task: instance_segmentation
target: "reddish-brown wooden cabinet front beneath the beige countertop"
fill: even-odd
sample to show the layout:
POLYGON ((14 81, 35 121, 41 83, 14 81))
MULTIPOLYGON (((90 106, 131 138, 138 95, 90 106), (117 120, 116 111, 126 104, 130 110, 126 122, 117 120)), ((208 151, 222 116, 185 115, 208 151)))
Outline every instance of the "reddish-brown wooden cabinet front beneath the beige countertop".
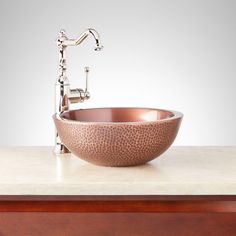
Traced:
POLYGON ((236 196, 1 196, 0 235, 235 236, 236 196))

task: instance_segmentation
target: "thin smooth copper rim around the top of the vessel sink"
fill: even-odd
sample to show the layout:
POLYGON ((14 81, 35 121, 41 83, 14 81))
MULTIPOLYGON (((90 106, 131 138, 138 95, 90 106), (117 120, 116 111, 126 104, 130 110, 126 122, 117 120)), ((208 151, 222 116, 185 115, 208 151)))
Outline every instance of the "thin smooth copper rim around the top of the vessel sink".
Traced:
POLYGON ((65 123, 72 123, 72 124, 84 124, 84 125, 144 125, 144 124, 151 124, 151 123, 163 123, 170 120, 181 119, 183 118, 183 113, 175 110, 167 110, 167 109, 160 109, 160 108, 150 108, 150 107, 94 107, 94 108, 80 108, 80 109, 72 109, 68 111, 64 111, 60 114, 55 113, 53 115, 54 119, 58 119, 65 123), (100 109, 144 109, 144 110, 154 110, 154 111, 161 111, 161 112, 170 112, 173 114, 171 117, 159 119, 159 120, 144 120, 144 121, 79 121, 79 120, 72 120, 62 117, 65 113, 70 113, 78 110, 100 110, 100 109))

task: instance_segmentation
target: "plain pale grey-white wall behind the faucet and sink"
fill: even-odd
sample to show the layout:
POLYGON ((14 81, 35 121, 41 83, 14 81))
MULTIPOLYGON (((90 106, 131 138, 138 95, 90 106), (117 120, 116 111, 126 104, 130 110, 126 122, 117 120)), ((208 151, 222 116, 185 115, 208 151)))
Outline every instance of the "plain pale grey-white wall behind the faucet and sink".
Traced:
POLYGON ((77 37, 68 77, 91 99, 77 107, 140 106, 179 110, 175 145, 236 145, 236 1, 0 2, 0 145, 52 145, 54 83, 61 28, 77 37))

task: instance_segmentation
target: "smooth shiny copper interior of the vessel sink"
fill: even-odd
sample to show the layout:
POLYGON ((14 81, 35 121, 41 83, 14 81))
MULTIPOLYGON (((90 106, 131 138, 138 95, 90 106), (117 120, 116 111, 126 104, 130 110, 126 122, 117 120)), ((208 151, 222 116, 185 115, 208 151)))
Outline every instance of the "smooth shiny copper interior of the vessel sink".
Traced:
POLYGON ((173 117, 170 111, 150 108, 93 108, 71 110, 61 118, 81 122, 143 122, 173 117))

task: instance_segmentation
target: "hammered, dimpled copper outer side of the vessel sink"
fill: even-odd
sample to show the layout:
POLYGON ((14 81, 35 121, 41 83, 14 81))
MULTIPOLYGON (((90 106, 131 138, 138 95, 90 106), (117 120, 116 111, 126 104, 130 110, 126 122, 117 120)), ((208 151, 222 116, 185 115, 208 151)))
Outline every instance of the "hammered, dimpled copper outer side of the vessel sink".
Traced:
POLYGON ((182 117, 156 122, 73 122, 53 116, 63 144, 76 156, 102 166, 144 164, 173 143, 182 117))

